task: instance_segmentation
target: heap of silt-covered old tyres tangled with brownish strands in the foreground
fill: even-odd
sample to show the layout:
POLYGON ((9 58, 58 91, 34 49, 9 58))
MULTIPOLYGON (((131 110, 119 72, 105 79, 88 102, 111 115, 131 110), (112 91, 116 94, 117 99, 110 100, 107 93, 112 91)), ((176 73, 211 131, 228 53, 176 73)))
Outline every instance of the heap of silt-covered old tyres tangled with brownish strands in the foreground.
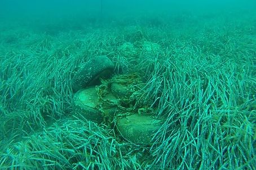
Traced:
MULTIPOLYGON (((74 114, 81 115, 95 123, 104 123, 116 128, 119 136, 135 144, 151 144, 152 136, 161 127, 161 120, 153 118, 153 109, 139 105, 138 91, 142 88, 142 78, 138 73, 129 75, 115 75, 111 77, 109 63, 106 56, 85 63, 74 76, 73 82, 80 85, 73 100, 74 114), (108 61, 101 65, 102 61, 108 61), (96 71, 97 70, 97 71, 96 71), (104 79, 108 70, 109 79, 104 79), (88 76, 90 75, 90 76, 88 76), (101 80, 101 81, 99 81, 101 80), (84 83, 86 82, 86 83, 84 83), (98 82, 98 83, 95 83, 98 82)), ((75 89, 78 89, 75 86, 75 89)))

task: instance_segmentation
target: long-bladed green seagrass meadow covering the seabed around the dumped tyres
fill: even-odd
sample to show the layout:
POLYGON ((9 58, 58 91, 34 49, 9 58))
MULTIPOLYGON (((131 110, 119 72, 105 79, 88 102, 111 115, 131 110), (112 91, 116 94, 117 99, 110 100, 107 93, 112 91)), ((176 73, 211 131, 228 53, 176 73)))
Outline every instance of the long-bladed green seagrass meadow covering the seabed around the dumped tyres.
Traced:
POLYGON ((0 17, 0 169, 256 169, 255 11, 0 17), (96 56, 139 75, 129 107, 162 122, 150 144, 74 113, 96 56))

